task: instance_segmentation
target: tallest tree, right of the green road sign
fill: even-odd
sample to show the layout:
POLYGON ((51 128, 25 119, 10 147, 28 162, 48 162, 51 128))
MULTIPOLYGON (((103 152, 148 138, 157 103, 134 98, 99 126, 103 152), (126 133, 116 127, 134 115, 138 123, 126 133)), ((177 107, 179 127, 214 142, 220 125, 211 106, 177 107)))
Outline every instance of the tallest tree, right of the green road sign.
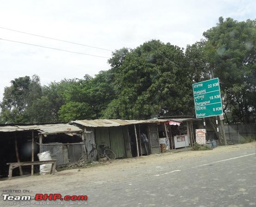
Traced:
POLYGON ((208 69, 220 79, 227 119, 250 123, 256 110, 256 21, 220 17, 203 35, 208 69))

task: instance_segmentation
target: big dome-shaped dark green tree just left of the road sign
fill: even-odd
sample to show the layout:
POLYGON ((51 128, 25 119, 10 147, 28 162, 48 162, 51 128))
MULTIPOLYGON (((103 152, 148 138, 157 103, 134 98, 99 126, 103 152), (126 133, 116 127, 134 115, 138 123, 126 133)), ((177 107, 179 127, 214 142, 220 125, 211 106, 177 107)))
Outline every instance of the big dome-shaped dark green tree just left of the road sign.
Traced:
POLYGON ((132 119, 193 113, 192 80, 180 47, 152 40, 130 51, 116 51, 109 63, 117 96, 104 117, 132 119))

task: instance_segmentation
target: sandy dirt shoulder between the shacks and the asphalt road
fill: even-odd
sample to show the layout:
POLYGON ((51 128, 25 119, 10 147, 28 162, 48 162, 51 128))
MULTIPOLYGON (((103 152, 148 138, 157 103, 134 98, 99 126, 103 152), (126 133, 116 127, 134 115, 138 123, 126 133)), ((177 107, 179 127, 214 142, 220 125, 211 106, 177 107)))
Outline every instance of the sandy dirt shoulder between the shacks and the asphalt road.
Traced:
POLYGON ((190 159, 199 156, 207 156, 209 154, 220 154, 232 151, 238 151, 246 148, 255 148, 256 142, 246 143, 246 144, 237 144, 230 146, 221 146, 214 148, 213 150, 207 151, 181 151, 175 153, 165 153, 161 155, 151 154, 149 156, 143 156, 139 158, 123 159, 123 160, 114 160, 111 163, 103 163, 89 168, 82 169, 71 169, 56 172, 55 175, 45 175, 45 176, 24 176, 24 177, 13 177, 12 180, 0 180, 0 188, 20 188, 21 186, 29 186, 32 183, 61 183, 65 181, 68 177, 70 181, 72 180, 93 180, 94 178, 99 179, 100 177, 106 177, 113 174, 113 172, 125 172, 128 169, 136 169, 140 166, 150 166, 155 165, 156 163, 163 162, 172 162, 175 160, 190 159))

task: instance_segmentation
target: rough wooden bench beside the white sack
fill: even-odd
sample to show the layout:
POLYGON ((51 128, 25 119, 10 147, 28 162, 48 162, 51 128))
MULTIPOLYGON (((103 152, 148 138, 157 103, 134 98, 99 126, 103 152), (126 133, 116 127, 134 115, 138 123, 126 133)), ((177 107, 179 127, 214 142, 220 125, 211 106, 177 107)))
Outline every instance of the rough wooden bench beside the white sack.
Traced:
POLYGON ((42 161, 30 161, 30 162, 9 162, 6 165, 9 166, 9 180, 12 179, 12 170, 19 166, 33 166, 33 165, 43 165, 43 164, 51 164, 50 173, 55 173, 56 168, 56 160, 42 160, 42 161))

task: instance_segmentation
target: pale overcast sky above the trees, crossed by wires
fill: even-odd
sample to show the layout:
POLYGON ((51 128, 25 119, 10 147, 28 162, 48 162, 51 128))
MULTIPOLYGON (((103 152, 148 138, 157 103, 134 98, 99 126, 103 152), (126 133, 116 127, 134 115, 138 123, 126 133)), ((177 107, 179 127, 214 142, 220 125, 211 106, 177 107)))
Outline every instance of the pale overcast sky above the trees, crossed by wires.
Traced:
MULTIPOLYGON (((255 19, 254 0, 0 0, 0 27, 109 50, 159 39, 186 48, 219 16, 255 19)), ((110 51, 0 29, 0 38, 111 57, 110 51)), ((106 58, 0 40, 0 99, 17 77, 37 74, 42 84, 109 69, 106 58)))

